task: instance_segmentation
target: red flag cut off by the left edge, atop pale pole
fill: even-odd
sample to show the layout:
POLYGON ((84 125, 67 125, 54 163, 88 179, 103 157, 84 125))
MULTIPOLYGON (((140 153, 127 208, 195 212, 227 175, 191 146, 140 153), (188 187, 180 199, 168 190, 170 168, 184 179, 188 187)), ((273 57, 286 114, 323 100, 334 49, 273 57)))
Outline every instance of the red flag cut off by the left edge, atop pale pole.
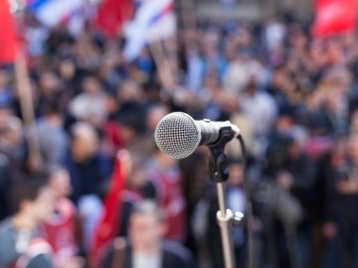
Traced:
POLYGON ((0 0, 0 65, 15 61, 16 35, 8 0, 0 0))

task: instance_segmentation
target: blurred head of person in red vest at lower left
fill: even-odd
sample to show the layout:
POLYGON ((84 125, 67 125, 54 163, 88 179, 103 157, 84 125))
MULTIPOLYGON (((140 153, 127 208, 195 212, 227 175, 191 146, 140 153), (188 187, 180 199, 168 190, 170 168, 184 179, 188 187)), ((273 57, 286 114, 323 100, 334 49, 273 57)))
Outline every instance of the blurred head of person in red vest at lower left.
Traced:
POLYGON ((72 192, 70 174, 64 167, 51 167, 49 171, 49 187, 56 199, 67 197, 72 192))

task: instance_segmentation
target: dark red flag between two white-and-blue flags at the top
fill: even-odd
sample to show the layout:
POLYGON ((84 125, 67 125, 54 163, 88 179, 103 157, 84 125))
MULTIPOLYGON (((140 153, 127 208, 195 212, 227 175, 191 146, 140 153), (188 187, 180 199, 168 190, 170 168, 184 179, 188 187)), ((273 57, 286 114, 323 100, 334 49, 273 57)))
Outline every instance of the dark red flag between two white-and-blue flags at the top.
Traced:
POLYGON ((133 10, 132 0, 104 0, 99 6, 97 25, 108 37, 117 37, 133 10))

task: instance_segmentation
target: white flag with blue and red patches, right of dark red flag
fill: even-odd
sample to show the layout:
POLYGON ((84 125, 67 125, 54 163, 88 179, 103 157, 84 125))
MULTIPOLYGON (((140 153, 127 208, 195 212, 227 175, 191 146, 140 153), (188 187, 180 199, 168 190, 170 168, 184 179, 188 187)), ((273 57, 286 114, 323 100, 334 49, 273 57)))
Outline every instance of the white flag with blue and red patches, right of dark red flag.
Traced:
POLYGON ((176 31, 174 0, 143 0, 133 21, 124 26, 124 57, 134 60, 146 44, 172 37, 176 31))

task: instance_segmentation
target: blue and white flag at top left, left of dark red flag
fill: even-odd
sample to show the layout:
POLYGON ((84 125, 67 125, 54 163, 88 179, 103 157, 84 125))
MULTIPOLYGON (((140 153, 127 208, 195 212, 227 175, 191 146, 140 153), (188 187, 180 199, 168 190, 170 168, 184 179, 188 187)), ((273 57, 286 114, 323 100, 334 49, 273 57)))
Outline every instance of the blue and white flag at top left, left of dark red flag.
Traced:
POLYGON ((28 7, 42 24, 54 27, 77 19, 85 3, 86 0, 28 0, 28 7))

